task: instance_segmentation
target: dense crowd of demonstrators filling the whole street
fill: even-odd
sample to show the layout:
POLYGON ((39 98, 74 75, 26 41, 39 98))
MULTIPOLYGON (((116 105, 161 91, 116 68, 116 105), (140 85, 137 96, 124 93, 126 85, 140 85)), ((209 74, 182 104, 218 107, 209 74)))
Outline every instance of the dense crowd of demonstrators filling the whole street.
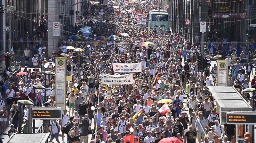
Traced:
MULTIPOLYGON (((128 143, 131 140, 127 140, 126 137, 130 135, 134 136, 134 143, 158 143, 168 137, 177 138, 185 143, 196 143, 197 139, 199 143, 235 143, 236 126, 220 123, 214 98, 208 89, 209 86, 216 85, 217 80, 217 66, 213 65, 211 68, 211 57, 218 53, 228 60, 230 69, 228 84, 241 93, 241 90, 249 87, 253 68, 251 62, 255 62, 254 49, 246 47, 241 47, 240 50, 232 49, 228 44, 228 38, 223 37, 222 41, 216 35, 212 35, 204 46, 204 51, 200 51, 198 43, 190 43, 178 32, 172 35, 170 29, 167 31, 163 31, 161 27, 148 29, 147 24, 139 25, 138 19, 134 18, 135 16, 140 16, 140 19, 148 18, 148 2, 121 4, 119 1, 108 1, 108 4, 102 5, 92 3, 83 11, 84 16, 77 17, 74 29, 78 32, 81 26, 91 26, 92 37, 82 38, 82 42, 71 40, 59 42, 59 47, 48 60, 42 49, 42 42, 39 44, 40 41, 33 44, 32 49, 24 51, 25 64, 32 61, 34 68, 25 67, 23 72, 26 73, 22 79, 14 73, 11 85, 5 83, 2 86, 5 87, 2 88, 4 89, 2 93, 7 96, 7 105, 0 98, 2 132, 8 114, 9 121, 12 122, 9 135, 19 132, 17 130, 19 110, 24 110, 24 108, 18 109, 19 100, 30 100, 34 102, 34 106, 57 106, 58 102, 54 96, 55 76, 45 75, 44 72, 55 72, 52 63, 55 63, 55 58, 60 57, 61 53, 66 53, 69 55, 67 75, 72 75, 72 81, 67 84, 67 95, 63 95, 68 100, 68 110, 63 110, 60 121, 53 120, 51 123, 50 120, 43 121, 44 132, 51 133, 51 142, 54 138, 60 142, 58 136, 61 132, 62 142, 66 142, 64 140, 66 135, 69 143, 83 141, 84 143, 124 143, 124 141, 128 143), (118 4, 120 7, 113 7, 118 4), (123 33, 129 36, 122 36, 123 33), (118 38, 95 41, 94 35, 97 37, 116 35, 118 38), (218 42, 213 42, 216 40, 218 42), (141 46, 146 41, 163 45, 141 46), (68 50, 67 46, 81 48, 84 51, 68 50), (196 62, 200 55, 207 60, 203 69, 200 69, 196 62), (142 61, 146 62, 146 67, 142 72, 133 74, 134 84, 101 84, 102 73, 115 74, 112 63, 142 61), (48 62, 52 63, 47 64, 48 62), (78 70, 79 68, 81 70, 78 70), (201 86, 202 70, 204 85, 201 86), (45 76, 46 81, 44 81, 45 76), (213 80, 210 80, 210 76, 213 80), (158 83, 158 80, 161 83, 158 83), (44 86, 45 82, 46 88, 51 88, 51 94, 47 95, 46 101, 42 91, 33 89, 33 85, 44 86), (187 103, 184 102, 185 98, 187 103), (164 99, 171 99, 173 102, 168 102, 170 111, 162 116, 159 110, 164 103, 158 101, 164 99), (189 109, 188 113, 185 111, 186 107, 189 109), (134 118, 139 112, 140 115, 134 118), (91 128, 92 124, 94 129, 91 128), (51 126, 50 131, 49 126, 51 126), (88 137, 89 134, 92 134, 91 139, 88 137)), ((255 81, 256 77, 252 79, 251 85, 256 88, 255 81)), ((250 95, 245 93, 241 95, 252 106, 250 95)), ((23 132, 26 132, 28 131, 26 110, 23 113, 25 118, 23 132)), ((248 137, 244 139, 245 142, 250 142, 248 137)))

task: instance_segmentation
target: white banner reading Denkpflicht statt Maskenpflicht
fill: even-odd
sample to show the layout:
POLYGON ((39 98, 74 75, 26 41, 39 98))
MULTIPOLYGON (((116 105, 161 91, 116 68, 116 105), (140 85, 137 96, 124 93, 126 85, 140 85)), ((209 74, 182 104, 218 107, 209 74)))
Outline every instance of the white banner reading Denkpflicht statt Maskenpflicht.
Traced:
POLYGON ((131 64, 121 64, 121 63, 112 63, 114 72, 141 72, 141 63, 131 63, 131 64))

